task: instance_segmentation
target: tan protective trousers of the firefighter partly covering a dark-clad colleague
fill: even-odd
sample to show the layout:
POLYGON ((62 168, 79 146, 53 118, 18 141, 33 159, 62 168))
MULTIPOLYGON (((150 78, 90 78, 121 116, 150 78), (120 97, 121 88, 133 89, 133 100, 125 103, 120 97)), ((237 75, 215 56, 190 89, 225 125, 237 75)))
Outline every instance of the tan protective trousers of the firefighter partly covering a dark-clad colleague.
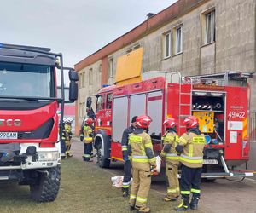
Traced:
POLYGON ((151 175, 148 165, 148 169, 143 170, 141 168, 134 168, 132 164, 132 177, 131 195, 129 204, 135 206, 136 209, 146 209, 148 192, 151 184, 151 175))

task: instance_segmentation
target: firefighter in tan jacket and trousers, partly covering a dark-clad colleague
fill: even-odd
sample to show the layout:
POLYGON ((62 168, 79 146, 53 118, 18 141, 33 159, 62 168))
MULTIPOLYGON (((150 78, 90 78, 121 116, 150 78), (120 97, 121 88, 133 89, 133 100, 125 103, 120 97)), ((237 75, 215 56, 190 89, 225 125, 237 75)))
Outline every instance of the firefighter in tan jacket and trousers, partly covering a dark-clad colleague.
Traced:
POLYGON ((128 153, 131 156, 132 176, 130 195, 130 210, 149 212, 147 207, 148 192, 151 184, 151 168, 155 168, 153 145, 145 132, 151 123, 148 116, 139 116, 136 119, 137 128, 129 136, 128 153))

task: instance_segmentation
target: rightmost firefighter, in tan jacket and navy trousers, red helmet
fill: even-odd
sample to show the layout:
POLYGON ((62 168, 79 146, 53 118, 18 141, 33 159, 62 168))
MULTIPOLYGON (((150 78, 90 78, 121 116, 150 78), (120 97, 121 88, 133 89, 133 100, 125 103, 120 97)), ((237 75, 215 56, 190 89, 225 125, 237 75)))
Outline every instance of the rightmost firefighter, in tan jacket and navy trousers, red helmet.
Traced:
POLYGON ((201 193, 203 150, 206 144, 205 137, 199 130, 198 119, 195 116, 186 118, 184 124, 187 132, 179 138, 179 143, 176 147, 177 153, 181 154, 180 161, 182 162, 182 203, 175 208, 177 211, 197 209, 201 193), (192 199, 189 204, 190 193, 192 193, 192 199))

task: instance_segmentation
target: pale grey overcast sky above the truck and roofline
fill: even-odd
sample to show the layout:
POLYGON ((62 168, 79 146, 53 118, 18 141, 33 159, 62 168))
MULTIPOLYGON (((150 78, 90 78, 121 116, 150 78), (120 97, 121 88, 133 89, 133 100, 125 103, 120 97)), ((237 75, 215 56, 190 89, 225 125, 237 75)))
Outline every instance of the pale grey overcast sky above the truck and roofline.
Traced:
POLYGON ((2 0, 0 43, 49 47, 72 66, 176 0, 2 0))

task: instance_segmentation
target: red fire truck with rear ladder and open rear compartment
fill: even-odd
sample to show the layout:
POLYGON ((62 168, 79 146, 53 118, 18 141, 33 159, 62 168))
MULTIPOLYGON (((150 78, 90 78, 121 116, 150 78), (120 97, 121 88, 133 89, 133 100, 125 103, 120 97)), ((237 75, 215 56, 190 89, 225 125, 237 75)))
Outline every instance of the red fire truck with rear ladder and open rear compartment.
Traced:
MULTIPOLYGON (((249 87, 252 73, 226 72, 185 77, 179 72, 147 72, 137 83, 113 85, 96 94, 95 140, 98 164, 108 168, 122 160, 121 137, 135 115, 152 118, 149 128, 154 152, 160 153, 166 118, 177 120, 178 135, 185 132, 184 118, 194 115, 206 135, 203 177, 253 176, 235 171, 249 159, 249 87), (150 74, 151 73, 151 74, 150 74)), ((90 109, 90 98, 87 107, 90 109)))

